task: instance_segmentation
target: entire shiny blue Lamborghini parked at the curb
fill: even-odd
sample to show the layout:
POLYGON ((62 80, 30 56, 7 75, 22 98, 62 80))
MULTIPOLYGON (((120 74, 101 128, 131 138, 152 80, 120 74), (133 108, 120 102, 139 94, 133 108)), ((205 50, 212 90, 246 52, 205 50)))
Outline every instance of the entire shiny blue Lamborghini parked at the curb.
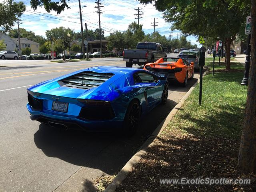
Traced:
POLYGON ((30 118, 65 129, 122 129, 132 135, 140 116, 168 97, 165 77, 142 69, 97 66, 27 89, 30 118))

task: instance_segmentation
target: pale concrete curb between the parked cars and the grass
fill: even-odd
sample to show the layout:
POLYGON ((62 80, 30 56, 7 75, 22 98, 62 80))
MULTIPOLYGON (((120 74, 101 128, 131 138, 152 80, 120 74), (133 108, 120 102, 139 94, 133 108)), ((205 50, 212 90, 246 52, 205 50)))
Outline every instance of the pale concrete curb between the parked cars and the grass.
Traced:
MULTIPOLYGON (((207 74, 210 68, 207 68, 204 72, 203 76, 207 74)), ((157 126, 154 132, 150 135, 150 137, 144 142, 144 144, 140 147, 138 152, 130 158, 130 160, 124 165, 124 167, 120 170, 120 172, 116 175, 114 180, 108 185, 108 187, 104 190, 104 192, 115 192, 117 187, 121 184, 121 182, 128 176, 128 174, 132 171, 132 167, 139 162, 141 156, 146 154, 148 148, 152 146, 153 141, 157 136, 159 136, 162 131, 166 128, 170 120, 172 120, 173 116, 178 112, 182 104, 185 100, 190 96, 192 90, 196 87, 196 85, 200 82, 198 79, 197 82, 188 90, 188 92, 184 95, 184 97, 180 100, 180 102, 171 110, 168 116, 157 126)))

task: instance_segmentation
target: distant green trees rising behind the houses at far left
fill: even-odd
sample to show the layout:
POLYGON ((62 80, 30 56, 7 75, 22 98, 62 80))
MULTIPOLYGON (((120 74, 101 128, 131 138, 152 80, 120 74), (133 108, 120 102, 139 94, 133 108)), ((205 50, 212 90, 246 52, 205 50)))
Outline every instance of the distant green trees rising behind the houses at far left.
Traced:
MULTIPOLYGON (((18 38, 18 29, 10 30, 9 34, 10 38, 18 38)), ((45 43, 45 38, 40 35, 35 35, 32 31, 27 31, 24 28, 20 28, 20 38, 27 38, 31 41, 40 43, 41 45, 45 43)))

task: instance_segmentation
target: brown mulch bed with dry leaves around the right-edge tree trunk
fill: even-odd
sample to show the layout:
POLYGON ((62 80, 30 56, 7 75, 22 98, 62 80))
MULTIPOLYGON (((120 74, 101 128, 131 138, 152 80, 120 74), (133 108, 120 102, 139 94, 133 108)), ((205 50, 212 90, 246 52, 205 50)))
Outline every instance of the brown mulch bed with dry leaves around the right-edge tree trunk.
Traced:
MULTIPOLYGON (((213 125, 214 126, 214 125, 213 125)), ((252 192, 254 174, 236 169, 240 140, 193 136, 165 130, 136 164, 117 192, 252 192), (249 185, 171 185, 170 178, 250 178, 249 185)))

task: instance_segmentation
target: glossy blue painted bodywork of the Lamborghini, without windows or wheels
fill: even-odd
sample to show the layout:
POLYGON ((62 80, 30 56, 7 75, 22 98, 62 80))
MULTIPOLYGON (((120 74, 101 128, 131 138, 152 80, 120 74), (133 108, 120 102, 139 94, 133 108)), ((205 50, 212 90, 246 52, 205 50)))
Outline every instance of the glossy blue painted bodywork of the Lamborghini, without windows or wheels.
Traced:
POLYGON ((40 94, 33 98, 42 102, 42 109, 34 110, 29 103, 27 104, 27 109, 31 114, 32 120, 43 122, 42 119, 46 119, 46 122, 67 124, 68 128, 73 128, 74 125, 78 125, 79 128, 85 130, 94 130, 107 126, 121 128, 129 103, 134 99, 138 100, 141 105, 142 115, 146 114, 161 102, 166 82, 167 80, 159 80, 159 77, 151 72, 136 68, 116 66, 86 68, 28 88, 28 91, 32 93, 40 94), (86 71, 99 74, 112 73, 114 75, 100 86, 90 89, 68 87, 62 82, 65 78, 86 71), (150 83, 134 83, 133 75, 141 72, 150 74, 157 80, 150 83), (98 109, 99 113, 102 109, 100 106, 89 106, 85 100, 110 102, 114 111, 114 118, 111 120, 88 120, 81 118, 79 115, 82 108, 98 107, 96 109, 98 109), (54 101, 68 103, 67 112, 52 110, 54 101))

